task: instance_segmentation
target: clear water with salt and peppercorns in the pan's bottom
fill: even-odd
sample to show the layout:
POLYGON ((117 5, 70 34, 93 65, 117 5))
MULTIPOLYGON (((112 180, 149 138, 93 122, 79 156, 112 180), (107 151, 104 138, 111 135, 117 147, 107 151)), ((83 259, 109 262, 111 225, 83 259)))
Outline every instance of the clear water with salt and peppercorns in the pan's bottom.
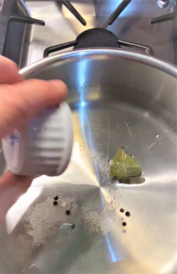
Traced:
POLYGON ((176 212, 173 129, 141 107, 71 96, 74 145, 68 169, 59 177, 35 179, 9 210, 1 256, 13 273, 162 272, 161 261, 165 266, 175 250, 175 224, 163 218, 168 214, 172 224, 176 212), (144 183, 110 180, 110 159, 122 145, 140 164, 144 183))

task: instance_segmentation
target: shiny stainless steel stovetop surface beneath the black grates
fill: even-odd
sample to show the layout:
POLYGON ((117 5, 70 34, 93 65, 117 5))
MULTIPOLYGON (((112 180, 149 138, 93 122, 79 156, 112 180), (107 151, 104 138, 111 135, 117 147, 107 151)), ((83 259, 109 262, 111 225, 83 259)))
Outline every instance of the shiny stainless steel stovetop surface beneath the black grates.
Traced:
MULTIPOLYGON (((4 4, 5 2, 6 0, 4 4)), ((118 39, 149 45, 156 57, 177 64, 176 19, 150 24, 152 18, 175 12, 176 1, 169 0, 167 6, 161 8, 158 0, 133 0, 109 26, 108 18, 120 2, 72 1, 71 4, 87 23, 84 26, 64 5, 61 5, 60 1, 18 0, 20 14, 43 20, 45 26, 24 27, 22 23, 12 22, 5 55, 14 59, 22 68, 42 59, 45 48, 75 40, 81 32, 89 28, 102 27, 113 32, 118 39), (21 52, 19 56, 16 54, 14 57, 13 52, 18 39, 21 40, 21 52)))

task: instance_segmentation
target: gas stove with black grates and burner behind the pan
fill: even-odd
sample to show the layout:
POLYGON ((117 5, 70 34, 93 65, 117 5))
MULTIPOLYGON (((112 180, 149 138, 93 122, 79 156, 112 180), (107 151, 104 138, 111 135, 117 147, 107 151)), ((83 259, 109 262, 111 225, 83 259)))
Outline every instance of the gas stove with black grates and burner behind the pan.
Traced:
POLYGON ((23 68, 83 47, 130 47, 177 64, 176 0, 4 0, 0 54, 23 68))

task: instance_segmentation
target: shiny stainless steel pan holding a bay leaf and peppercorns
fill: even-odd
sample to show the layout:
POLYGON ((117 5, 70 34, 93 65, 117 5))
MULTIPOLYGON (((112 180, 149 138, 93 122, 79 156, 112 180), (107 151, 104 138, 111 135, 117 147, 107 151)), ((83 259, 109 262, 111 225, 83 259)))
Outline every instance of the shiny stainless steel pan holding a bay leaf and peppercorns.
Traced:
POLYGON ((0 228, 7 273, 176 273, 176 67, 96 48, 20 73, 68 85, 74 144, 66 172, 35 179, 9 209, 0 228), (121 146, 143 171, 130 184, 109 178, 121 146))

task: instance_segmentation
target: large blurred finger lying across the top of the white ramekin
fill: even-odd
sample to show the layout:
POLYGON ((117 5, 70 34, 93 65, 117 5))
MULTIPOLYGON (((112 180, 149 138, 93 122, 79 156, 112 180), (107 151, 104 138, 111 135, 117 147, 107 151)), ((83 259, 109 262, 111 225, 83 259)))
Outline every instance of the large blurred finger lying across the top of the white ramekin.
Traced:
POLYGON ((0 139, 21 130, 38 113, 63 101, 67 86, 60 80, 30 79, 0 85, 0 139))

